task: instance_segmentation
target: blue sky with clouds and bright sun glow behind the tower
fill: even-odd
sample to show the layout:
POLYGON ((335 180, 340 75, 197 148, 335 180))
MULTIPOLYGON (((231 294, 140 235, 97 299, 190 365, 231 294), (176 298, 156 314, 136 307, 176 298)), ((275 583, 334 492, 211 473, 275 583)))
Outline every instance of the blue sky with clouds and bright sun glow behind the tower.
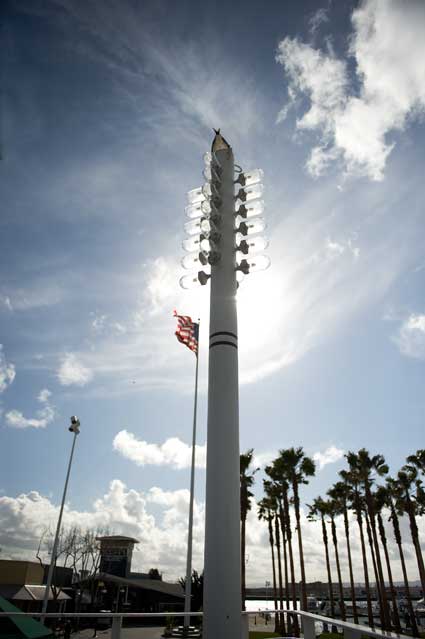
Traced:
POLYGON ((172 311, 201 318, 202 466, 208 287, 178 279, 212 127, 265 172, 272 268, 238 294, 242 450, 304 446, 323 466, 308 501, 344 451, 395 472, 423 447, 423 3, 15 0, 2 22, 3 555, 31 557, 55 521, 77 414, 67 522, 184 572, 194 358, 172 311))

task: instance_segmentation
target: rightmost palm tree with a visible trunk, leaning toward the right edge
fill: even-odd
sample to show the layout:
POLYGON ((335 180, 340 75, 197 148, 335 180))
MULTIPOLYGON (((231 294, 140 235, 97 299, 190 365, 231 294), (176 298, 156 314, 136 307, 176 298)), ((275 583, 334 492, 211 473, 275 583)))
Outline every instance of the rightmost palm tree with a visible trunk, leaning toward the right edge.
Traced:
POLYGON ((424 506, 422 504, 423 489, 421 487, 421 481, 418 478, 417 468, 411 465, 403 466, 403 468, 397 473, 397 483, 400 488, 397 507, 400 514, 406 513, 409 518, 410 534, 412 536, 416 561, 418 563, 422 592, 425 594, 425 566, 419 540, 418 525, 416 523, 416 515, 422 515, 424 513, 424 506), (419 500, 416 499, 418 495, 420 496, 419 500))

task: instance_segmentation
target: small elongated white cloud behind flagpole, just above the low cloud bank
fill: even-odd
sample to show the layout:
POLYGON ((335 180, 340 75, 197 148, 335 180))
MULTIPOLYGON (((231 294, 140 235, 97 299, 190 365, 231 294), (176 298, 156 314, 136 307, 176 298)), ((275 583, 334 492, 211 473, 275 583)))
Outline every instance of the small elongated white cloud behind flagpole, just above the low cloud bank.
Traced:
MULTIPOLYGON (((192 447, 178 437, 170 437, 163 444, 148 444, 133 433, 121 430, 114 437, 113 448, 138 466, 170 466, 180 470, 191 465, 192 447)), ((205 468, 205 465, 206 446, 197 444, 196 466, 205 468)))

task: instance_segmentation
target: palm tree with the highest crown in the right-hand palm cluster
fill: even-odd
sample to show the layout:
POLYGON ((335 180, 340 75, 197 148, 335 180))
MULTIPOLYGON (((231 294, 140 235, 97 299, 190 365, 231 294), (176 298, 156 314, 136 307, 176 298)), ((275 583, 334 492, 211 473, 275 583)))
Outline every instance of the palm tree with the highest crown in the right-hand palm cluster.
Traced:
POLYGON ((382 455, 370 456, 365 448, 361 448, 358 453, 349 452, 346 455, 350 467, 356 468, 359 479, 363 484, 367 512, 372 532, 371 548, 375 550, 376 567, 378 571, 380 586, 380 603, 382 611, 382 628, 391 630, 391 619, 388 608, 387 593, 385 590, 384 573, 382 570, 381 554, 379 551, 378 535, 376 532, 375 504, 372 495, 372 484, 375 477, 383 477, 388 474, 388 466, 382 455))

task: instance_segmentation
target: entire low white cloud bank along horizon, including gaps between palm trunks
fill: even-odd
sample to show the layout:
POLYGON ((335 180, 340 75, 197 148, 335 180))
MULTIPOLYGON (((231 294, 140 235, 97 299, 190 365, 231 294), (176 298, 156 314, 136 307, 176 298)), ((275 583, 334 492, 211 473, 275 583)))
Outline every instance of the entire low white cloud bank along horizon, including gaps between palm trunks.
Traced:
MULTIPOLYGON (((95 500, 91 508, 74 510, 68 503, 64 509, 63 523, 65 527, 77 525, 81 528, 109 529, 111 533, 135 537, 140 544, 136 545, 133 555, 133 570, 147 571, 158 567, 166 580, 174 580, 185 572, 187 548, 189 491, 164 491, 152 487, 147 491, 128 488, 119 479, 111 481, 106 493, 95 500)), ((59 506, 37 491, 31 491, 10 497, 0 495, 0 545, 4 554, 14 558, 34 559, 40 536, 50 527, 54 530, 57 522, 59 506)), ((202 570, 204 545, 204 511, 202 502, 194 504, 194 544, 193 567, 202 570)), ((291 509, 294 524, 293 510, 291 509)), ((308 522, 306 509, 301 512, 303 544, 307 579, 325 579, 325 557, 322 544, 320 522, 308 522)), ((423 518, 418 520, 420 534, 425 534, 423 518)), ((344 538, 343 521, 337 519, 338 537, 344 538)), ((394 557, 393 570, 395 579, 401 579, 400 563, 393 540, 391 525, 385 517, 389 549, 394 557)), ((355 518, 350 514, 350 529, 353 553, 355 580, 362 582, 362 559, 355 518)), ((403 548, 406 551, 407 568, 412 579, 417 578, 417 567, 410 540, 409 525, 401 520, 403 548)), ((271 578, 270 548, 267 526, 258 521, 257 504, 252 503, 252 510, 247 520, 247 583, 261 585, 271 578)), ((297 546, 294 546, 295 553, 297 546)), ((346 572, 347 556, 345 544, 341 544, 341 565, 345 567, 343 578, 348 580, 346 572)), ((296 573, 299 578, 298 561, 296 573)), ((332 569, 334 566, 332 565, 332 569)))

